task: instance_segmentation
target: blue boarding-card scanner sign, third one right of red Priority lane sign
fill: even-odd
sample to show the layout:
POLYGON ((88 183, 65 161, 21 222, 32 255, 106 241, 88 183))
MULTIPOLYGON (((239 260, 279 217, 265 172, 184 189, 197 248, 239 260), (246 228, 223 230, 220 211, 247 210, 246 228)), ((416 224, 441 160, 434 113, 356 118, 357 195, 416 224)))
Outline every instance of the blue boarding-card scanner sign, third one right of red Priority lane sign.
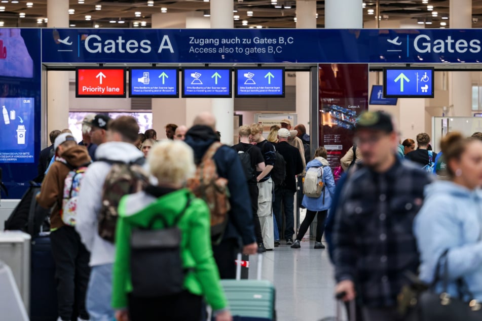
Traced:
POLYGON ((235 97, 284 97, 284 68, 238 68, 235 97))

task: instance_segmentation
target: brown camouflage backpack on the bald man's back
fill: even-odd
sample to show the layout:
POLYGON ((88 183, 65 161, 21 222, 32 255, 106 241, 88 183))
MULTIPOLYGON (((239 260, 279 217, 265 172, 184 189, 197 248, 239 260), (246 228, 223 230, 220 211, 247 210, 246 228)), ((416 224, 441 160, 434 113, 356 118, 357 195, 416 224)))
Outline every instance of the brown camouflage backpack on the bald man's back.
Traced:
POLYGON ((211 213, 211 240, 218 244, 223 237, 228 223, 229 203, 228 180, 217 175, 216 163, 212 157, 221 147, 219 142, 213 143, 204 153, 201 163, 196 167, 196 174, 188 181, 188 188, 202 198, 211 213))

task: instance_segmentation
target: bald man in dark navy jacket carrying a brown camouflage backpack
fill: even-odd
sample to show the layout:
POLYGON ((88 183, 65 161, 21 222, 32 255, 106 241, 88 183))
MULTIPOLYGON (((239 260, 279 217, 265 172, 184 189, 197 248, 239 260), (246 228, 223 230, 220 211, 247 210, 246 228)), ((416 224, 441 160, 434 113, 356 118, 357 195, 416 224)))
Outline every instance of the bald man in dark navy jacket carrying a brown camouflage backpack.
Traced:
MULTIPOLYGON (((201 162, 204 153, 212 143, 217 141, 215 133, 216 121, 212 114, 201 113, 194 119, 193 127, 186 133, 186 142, 194 150, 196 164, 201 162)), ((212 250, 221 278, 236 278, 236 256, 239 243, 242 243, 243 254, 257 252, 254 237, 253 214, 251 211, 246 176, 239 156, 229 146, 221 146, 213 156, 217 174, 228 180, 231 210, 228 213, 228 225, 221 243, 213 245, 212 250)))

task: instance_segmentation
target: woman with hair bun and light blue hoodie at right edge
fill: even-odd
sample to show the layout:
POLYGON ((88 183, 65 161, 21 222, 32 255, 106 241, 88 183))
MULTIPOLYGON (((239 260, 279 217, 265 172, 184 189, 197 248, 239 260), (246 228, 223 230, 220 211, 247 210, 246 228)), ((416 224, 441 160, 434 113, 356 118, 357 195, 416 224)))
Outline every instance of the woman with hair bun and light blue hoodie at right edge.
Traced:
MULTIPOLYGON (((464 299, 482 301, 482 142, 451 133, 440 145, 450 180, 426 187, 425 204, 415 218, 420 278, 431 283, 440 256, 448 250, 448 294, 459 296, 462 279, 471 293, 463 292, 464 299)), ((441 271, 439 277, 443 265, 441 271)), ((438 282, 435 291, 443 290, 438 282)))

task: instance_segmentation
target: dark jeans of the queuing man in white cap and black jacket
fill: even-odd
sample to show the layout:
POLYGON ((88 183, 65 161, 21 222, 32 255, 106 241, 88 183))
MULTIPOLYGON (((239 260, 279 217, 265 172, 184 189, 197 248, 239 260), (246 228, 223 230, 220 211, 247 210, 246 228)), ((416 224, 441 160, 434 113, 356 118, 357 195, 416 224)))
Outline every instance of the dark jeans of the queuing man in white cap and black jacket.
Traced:
POLYGON ((293 238, 294 234, 294 191, 279 187, 275 190, 275 199, 273 201, 273 212, 278 223, 278 231, 281 235, 281 226, 283 220, 281 216, 281 203, 283 203, 286 228, 284 230, 284 238, 293 238))

